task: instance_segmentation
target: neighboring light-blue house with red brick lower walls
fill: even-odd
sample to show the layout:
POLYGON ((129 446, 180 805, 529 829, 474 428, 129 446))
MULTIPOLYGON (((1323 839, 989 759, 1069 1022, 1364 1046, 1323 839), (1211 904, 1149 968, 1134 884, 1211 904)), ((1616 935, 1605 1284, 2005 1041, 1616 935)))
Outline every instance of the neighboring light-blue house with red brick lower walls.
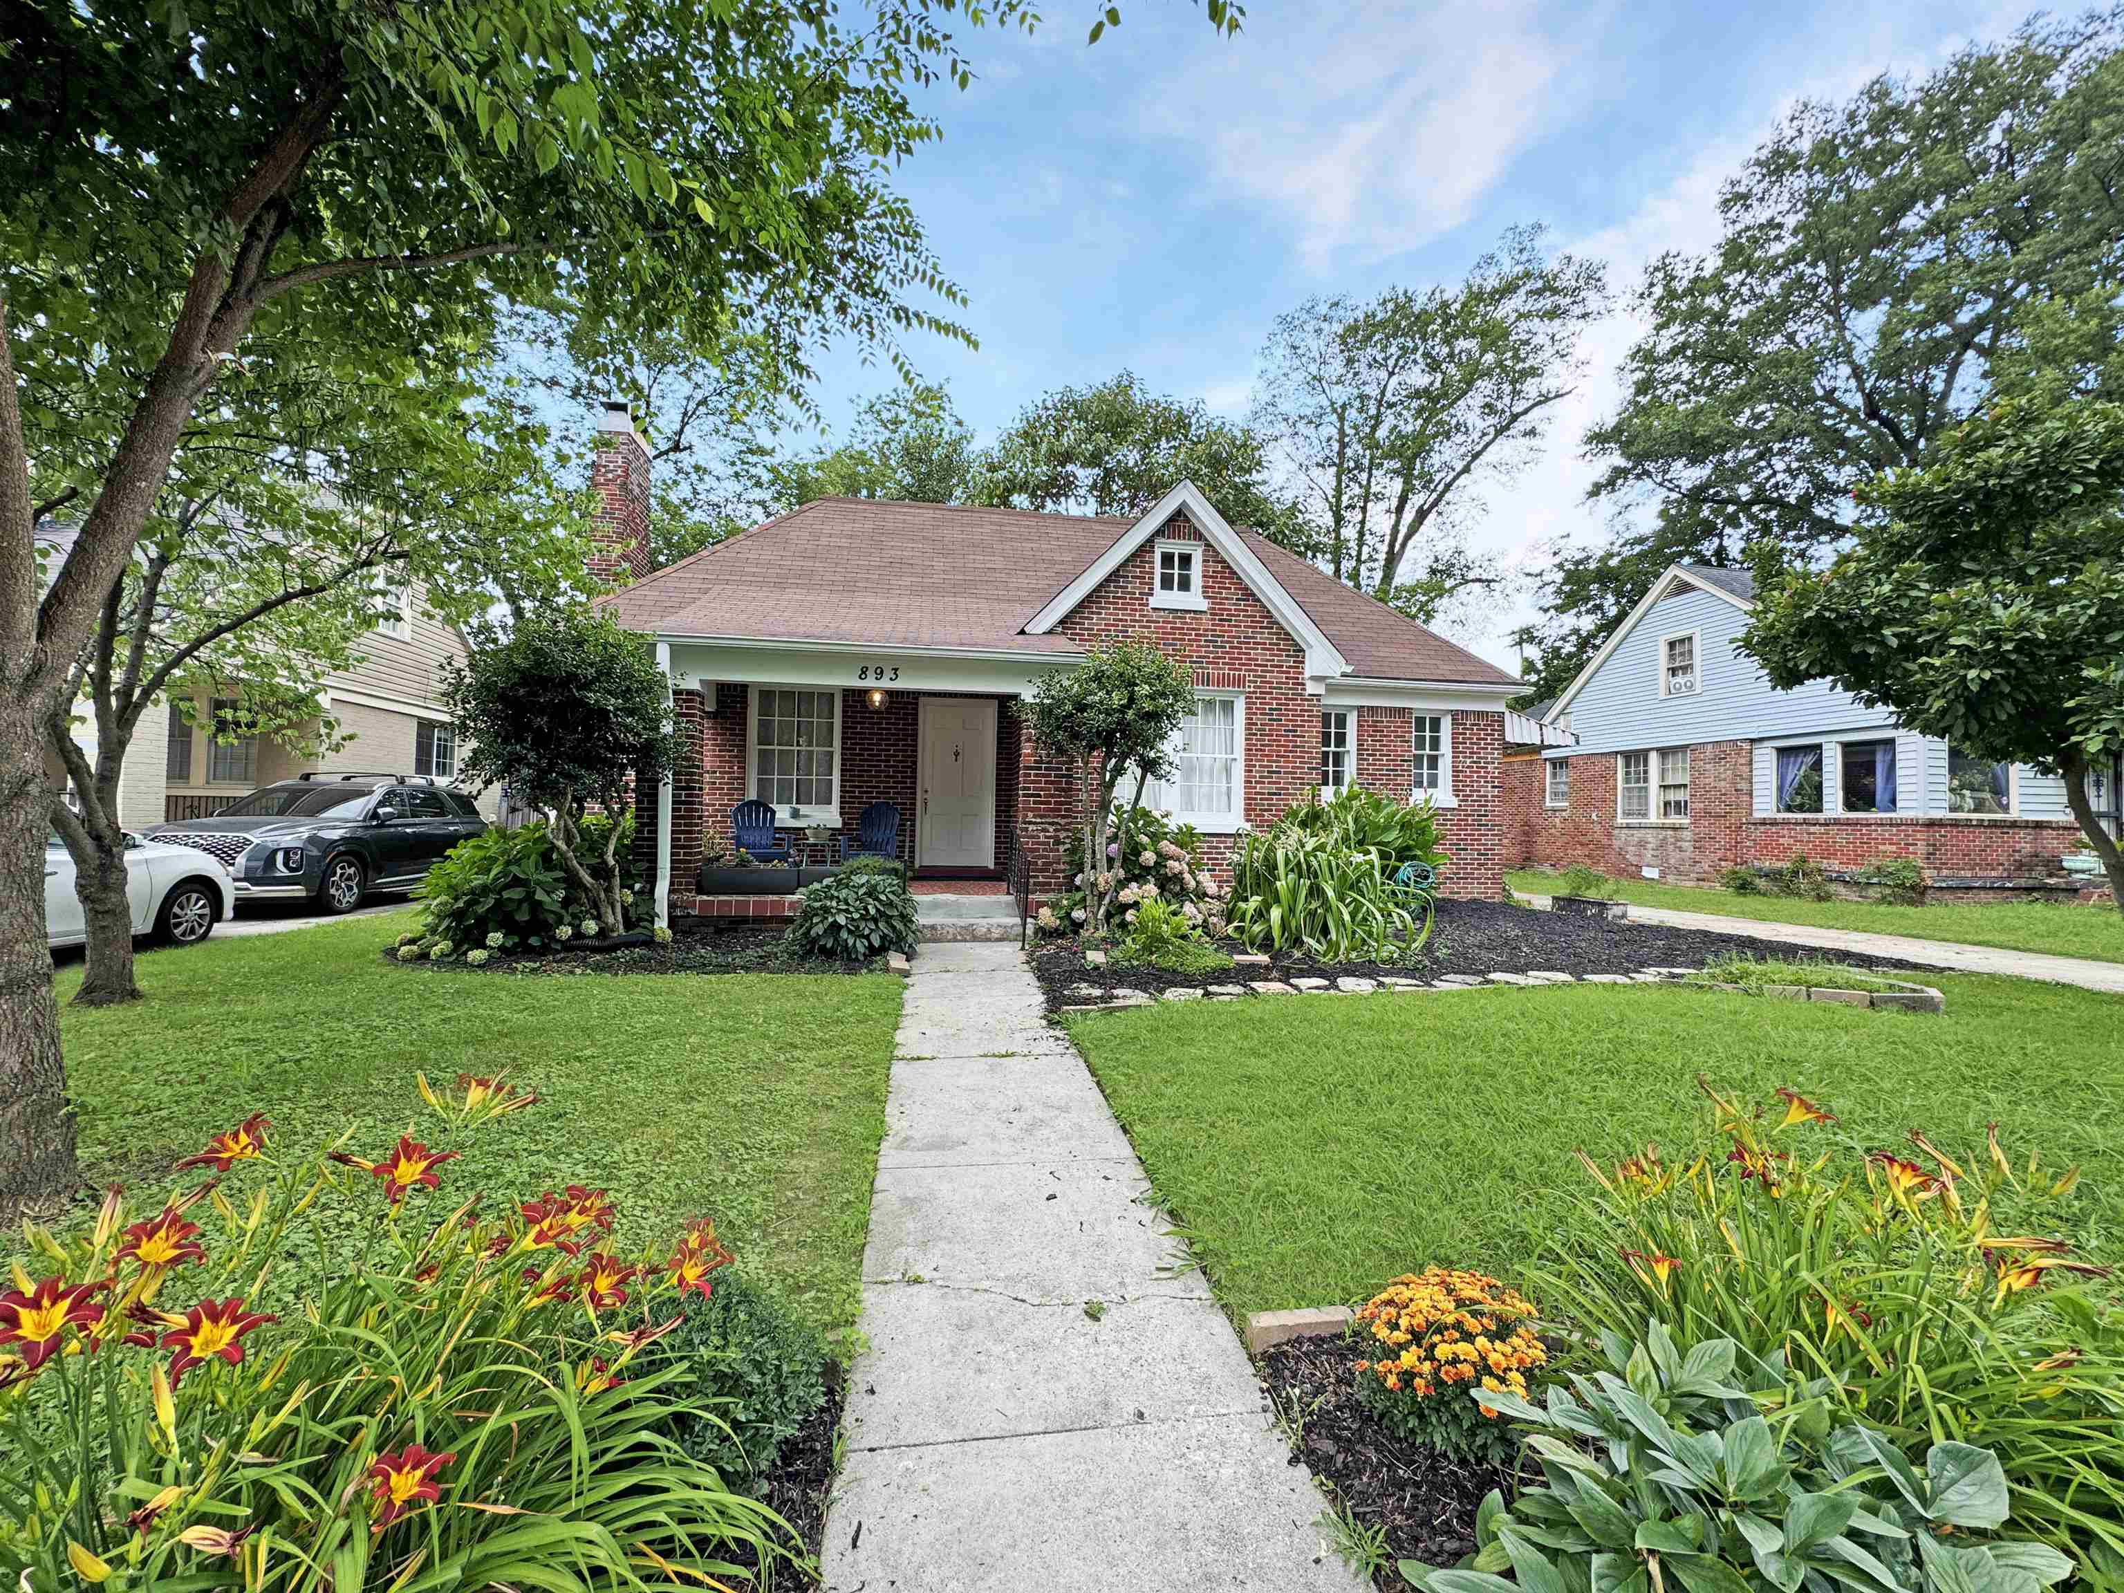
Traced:
MULTIPOLYGON (((1740 635, 1740 569, 1674 565, 1546 712, 1534 862, 1710 879, 1795 854, 1831 871, 1914 858, 1935 886, 2065 888, 2079 826, 2058 775, 1975 758, 1827 682, 1778 690, 1740 635)), ((2088 782, 2111 830, 2118 769, 2088 782)), ((2077 867, 2077 864, 2075 864, 2077 867)))

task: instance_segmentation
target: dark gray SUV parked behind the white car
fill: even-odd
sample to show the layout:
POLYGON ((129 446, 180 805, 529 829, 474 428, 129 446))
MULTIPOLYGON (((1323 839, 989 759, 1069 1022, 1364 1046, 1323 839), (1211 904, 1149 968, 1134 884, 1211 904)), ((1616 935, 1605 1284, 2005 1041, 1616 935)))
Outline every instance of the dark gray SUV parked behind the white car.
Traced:
POLYGON ((302 775, 212 818, 157 824, 151 841, 191 845, 236 877, 236 901, 308 896, 350 913, 374 892, 412 890, 486 820, 461 790, 423 775, 302 775))

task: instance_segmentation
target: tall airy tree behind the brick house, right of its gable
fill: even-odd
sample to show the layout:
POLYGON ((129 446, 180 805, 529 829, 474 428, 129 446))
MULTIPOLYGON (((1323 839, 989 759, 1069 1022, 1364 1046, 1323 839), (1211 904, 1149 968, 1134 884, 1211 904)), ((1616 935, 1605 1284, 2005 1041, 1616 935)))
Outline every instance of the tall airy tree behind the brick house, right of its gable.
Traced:
POLYGON ((1328 573, 1419 620, 1495 588, 1495 563, 1455 533, 1485 484, 1538 459, 1604 308, 1597 263, 1517 227, 1455 287, 1277 316, 1253 429, 1296 484, 1328 573))

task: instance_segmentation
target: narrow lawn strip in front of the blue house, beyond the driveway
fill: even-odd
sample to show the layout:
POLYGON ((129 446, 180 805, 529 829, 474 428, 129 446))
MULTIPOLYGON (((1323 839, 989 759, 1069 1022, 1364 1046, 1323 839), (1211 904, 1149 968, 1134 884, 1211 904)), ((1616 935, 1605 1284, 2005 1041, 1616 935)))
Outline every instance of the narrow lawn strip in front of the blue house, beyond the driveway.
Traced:
MULTIPOLYGON (((1514 869, 1512 890, 1548 896, 1557 875, 1548 869, 1514 869)), ((2096 962, 2124 962, 2124 913, 2113 907, 1999 901, 1926 903, 1897 907, 1869 901, 1799 901, 1791 896, 1740 896, 1712 886, 1663 886, 1657 879, 1610 879, 1608 894, 1640 907, 1674 907, 1684 913, 1725 913, 1771 924, 1818 924, 1822 928, 1916 935, 1924 941, 1999 945, 2009 952, 2050 952, 2096 962)))

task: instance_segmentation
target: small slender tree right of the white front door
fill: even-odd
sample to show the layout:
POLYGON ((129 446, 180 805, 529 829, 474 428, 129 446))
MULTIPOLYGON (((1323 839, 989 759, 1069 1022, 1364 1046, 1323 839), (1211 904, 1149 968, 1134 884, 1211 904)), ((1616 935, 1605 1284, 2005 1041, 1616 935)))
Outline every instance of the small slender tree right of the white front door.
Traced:
POLYGON ((1107 928, 1121 884, 1121 871, 1107 867, 1113 801, 1134 775, 1126 809, 1134 816, 1143 786, 1172 773, 1172 735, 1192 712, 1187 669, 1138 641, 1096 648, 1081 667, 1047 675, 1032 692, 1032 739, 1077 765, 1085 935, 1107 928))

